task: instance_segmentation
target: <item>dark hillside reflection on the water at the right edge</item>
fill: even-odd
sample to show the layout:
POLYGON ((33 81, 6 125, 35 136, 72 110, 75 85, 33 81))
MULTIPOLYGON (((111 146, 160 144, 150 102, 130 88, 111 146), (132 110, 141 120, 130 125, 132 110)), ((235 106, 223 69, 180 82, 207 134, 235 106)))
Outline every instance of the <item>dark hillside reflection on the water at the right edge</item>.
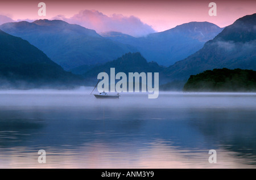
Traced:
POLYGON ((237 157, 247 158, 246 164, 255 164, 255 109, 211 109, 200 114, 201 119, 191 119, 191 126, 209 141, 220 144, 221 148, 236 152, 237 157))

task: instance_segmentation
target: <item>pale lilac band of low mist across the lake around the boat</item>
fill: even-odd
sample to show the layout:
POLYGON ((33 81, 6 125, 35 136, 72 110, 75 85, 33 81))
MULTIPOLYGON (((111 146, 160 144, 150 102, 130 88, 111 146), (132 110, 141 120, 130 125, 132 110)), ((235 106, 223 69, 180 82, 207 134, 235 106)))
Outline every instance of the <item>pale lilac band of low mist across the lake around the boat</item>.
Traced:
POLYGON ((256 107, 256 93, 168 92, 149 99, 148 93, 120 93, 119 99, 97 99, 94 87, 73 90, 0 90, 0 106, 72 106, 79 108, 246 108, 256 107), (93 92, 92 92, 93 91, 93 92), (90 94, 92 92, 92 94, 90 94))

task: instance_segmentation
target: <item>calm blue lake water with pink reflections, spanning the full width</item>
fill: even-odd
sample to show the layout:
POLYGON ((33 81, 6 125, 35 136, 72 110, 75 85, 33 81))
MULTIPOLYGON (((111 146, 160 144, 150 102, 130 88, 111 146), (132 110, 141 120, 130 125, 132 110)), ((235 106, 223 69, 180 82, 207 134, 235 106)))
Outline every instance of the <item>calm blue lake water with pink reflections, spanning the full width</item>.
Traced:
POLYGON ((89 93, 0 91, 0 168, 256 168, 256 93, 89 93))

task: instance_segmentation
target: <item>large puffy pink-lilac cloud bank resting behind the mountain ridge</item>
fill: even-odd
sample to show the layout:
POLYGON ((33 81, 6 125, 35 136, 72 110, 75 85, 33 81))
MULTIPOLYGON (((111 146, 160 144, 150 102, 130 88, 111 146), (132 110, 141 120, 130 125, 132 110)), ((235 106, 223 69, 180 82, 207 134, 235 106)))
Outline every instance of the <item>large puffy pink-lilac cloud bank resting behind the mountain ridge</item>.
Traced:
POLYGON ((53 19, 79 24, 85 28, 94 29, 97 33, 117 31, 134 37, 140 37, 155 32, 150 25, 141 22, 135 16, 123 16, 122 14, 107 16, 97 10, 82 10, 79 14, 73 15, 71 18, 58 15, 53 19))

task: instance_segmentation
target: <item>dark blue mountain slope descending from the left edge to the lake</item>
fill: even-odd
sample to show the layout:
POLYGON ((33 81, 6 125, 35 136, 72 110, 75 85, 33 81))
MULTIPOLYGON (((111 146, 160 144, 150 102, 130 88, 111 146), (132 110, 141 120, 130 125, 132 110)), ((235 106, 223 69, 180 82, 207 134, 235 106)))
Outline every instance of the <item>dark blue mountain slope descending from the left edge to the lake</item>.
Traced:
POLYGON ((82 78, 64 71, 28 41, 0 30, 1 88, 69 88, 81 83, 82 78))

